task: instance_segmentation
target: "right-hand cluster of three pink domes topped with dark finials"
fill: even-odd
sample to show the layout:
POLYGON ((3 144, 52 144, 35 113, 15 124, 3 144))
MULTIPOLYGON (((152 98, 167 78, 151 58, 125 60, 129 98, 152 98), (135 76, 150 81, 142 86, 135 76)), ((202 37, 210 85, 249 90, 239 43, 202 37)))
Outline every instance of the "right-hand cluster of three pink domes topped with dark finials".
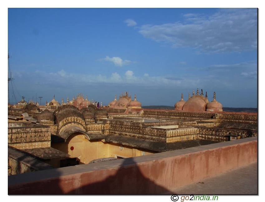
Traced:
POLYGON ((205 96, 203 96, 203 91, 201 90, 201 94, 199 95, 199 89, 197 89, 197 94, 194 94, 185 102, 183 99, 183 94, 181 94, 181 100, 175 103, 175 110, 176 111, 185 111, 185 112, 203 112, 203 111, 210 111, 210 112, 222 112, 223 105, 216 101, 215 99, 215 92, 214 92, 214 99, 209 102, 207 98, 207 92, 205 96))

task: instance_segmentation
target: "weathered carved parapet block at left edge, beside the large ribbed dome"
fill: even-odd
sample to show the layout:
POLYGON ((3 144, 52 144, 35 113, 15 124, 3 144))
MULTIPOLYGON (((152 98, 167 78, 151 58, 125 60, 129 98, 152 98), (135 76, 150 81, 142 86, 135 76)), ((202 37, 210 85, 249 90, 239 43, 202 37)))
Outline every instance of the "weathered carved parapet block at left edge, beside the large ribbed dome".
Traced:
POLYGON ((8 145, 17 149, 34 149, 51 146, 48 126, 27 122, 8 123, 8 145))

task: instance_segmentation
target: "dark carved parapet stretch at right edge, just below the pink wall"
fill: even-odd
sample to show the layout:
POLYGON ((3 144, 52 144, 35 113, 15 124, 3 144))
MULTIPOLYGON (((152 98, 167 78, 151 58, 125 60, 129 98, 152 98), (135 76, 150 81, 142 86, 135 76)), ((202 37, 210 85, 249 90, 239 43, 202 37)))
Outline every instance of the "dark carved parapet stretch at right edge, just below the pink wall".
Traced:
POLYGON ((234 123, 248 123, 258 124, 258 116, 251 114, 234 114, 234 113, 217 113, 216 118, 221 119, 221 122, 234 122, 234 123))

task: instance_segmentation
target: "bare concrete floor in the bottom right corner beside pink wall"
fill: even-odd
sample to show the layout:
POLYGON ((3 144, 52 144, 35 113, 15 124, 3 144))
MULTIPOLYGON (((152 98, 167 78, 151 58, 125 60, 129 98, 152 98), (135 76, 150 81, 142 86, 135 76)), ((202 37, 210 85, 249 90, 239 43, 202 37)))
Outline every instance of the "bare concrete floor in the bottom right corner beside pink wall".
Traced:
POLYGON ((258 163, 252 163, 165 194, 258 194, 258 163))

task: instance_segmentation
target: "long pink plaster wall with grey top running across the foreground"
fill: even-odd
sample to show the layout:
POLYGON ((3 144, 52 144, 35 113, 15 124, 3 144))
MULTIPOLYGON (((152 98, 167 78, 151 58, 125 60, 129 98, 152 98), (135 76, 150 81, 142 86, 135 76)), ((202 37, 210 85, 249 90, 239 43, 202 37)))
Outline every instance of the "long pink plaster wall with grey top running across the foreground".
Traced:
POLYGON ((257 137, 8 176, 8 194, 159 194, 257 162, 257 137))

